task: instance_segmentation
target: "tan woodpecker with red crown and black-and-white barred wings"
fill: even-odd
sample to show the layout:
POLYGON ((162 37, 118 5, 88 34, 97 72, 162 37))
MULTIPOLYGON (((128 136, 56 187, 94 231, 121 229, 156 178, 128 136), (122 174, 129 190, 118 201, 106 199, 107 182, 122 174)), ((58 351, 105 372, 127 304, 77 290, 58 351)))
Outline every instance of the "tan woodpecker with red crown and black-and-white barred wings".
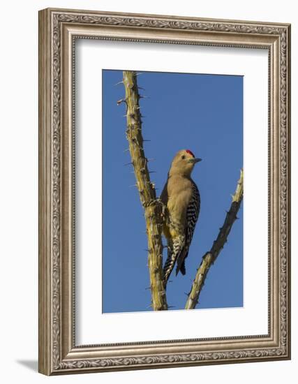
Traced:
POLYGON ((200 193, 191 179, 191 172, 198 161, 201 158, 195 158, 189 149, 179 151, 174 156, 161 193, 165 205, 163 234, 167 239, 167 260, 163 267, 165 283, 176 261, 176 275, 179 271, 186 273, 185 259, 200 213, 200 193))

